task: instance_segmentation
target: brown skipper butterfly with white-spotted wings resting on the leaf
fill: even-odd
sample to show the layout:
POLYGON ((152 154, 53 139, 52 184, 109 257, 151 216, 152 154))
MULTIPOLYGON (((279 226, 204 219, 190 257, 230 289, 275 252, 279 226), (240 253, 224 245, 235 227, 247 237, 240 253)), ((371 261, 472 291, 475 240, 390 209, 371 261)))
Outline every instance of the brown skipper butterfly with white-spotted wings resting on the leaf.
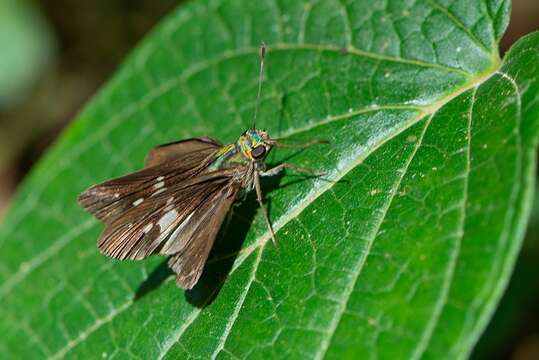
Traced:
MULTIPOLYGON (((255 120, 265 54, 262 45, 255 120)), ((260 177, 284 169, 323 174, 288 163, 266 170, 271 149, 320 143, 326 142, 287 144, 253 125, 226 145, 207 137, 161 145, 150 151, 142 170, 90 187, 79 195, 79 204, 106 225, 98 240, 101 253, 119 260, 170 256, 168 266, 176 274, 177 286, 191 289, 232 205, 246 193, 255 190, 275 243, 260 177)))

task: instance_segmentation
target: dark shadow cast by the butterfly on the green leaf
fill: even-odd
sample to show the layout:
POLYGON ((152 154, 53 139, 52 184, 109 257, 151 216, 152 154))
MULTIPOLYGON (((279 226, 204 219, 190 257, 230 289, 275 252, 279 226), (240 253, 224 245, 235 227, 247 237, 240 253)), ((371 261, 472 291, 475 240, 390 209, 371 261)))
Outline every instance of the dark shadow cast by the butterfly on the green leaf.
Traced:
MULTIPOLYGON (((280 187, 284 174, 264 178, 262 187, 264 194, 268 195, 280 187)), ((271 207, 271 198, 266 197, 265 205, 268 211, 271 207)), ((258 202, 254 192, 232 208, 230 216, 221 227, 216 242, 210 252, 204 272, 197 284, 190 290, 185 291, 185 299, 188 303, 198 308, 211 304, 219 295, 226 279, 230 275, 232 266, 241 250, 247 233, 252 226, 258 211, 258 202)), ((174 275, 164 260, 140 284, 135 292, 134 300, 137 301, 159 288, 167 279, 174 275)))

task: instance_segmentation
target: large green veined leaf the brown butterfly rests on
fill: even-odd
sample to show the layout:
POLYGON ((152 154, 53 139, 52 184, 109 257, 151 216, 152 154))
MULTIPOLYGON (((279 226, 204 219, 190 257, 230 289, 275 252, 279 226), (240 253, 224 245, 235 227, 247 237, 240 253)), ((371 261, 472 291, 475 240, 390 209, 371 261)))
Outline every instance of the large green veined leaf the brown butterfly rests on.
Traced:
POLYGON ((193 1, 33 170, 0 230, 0 351, 61 358, 463 358, 521 245, 539 133, 539 35, 503 63, 508 1, 193 1), (100 255, 89 185, 160 143, 260 127, 329 146, 271 164, 201 284, 100 255), (256 216, 255 216, 256 215, 256 216), (235 255, 241 247, 239 254, 235 255), (228 276, 227 276, 228 274, 228 276), (222 285, 222 286, 221 286, 222 285))

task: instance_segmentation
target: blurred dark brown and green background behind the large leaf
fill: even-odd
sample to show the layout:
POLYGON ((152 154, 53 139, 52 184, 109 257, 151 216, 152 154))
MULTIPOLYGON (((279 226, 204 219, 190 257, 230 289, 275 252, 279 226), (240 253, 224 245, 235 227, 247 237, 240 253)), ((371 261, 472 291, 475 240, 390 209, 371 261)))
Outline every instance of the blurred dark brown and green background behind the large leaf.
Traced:
MULTIPOLYGON (((0 0, 0 221, 32 164, 140 38, 181 2, 0 0)), ((537 29, 539 0, 514 0, 501 53, 537 29)), ((511 283, 472 358, 539 359, 537 193, 511 283)))

